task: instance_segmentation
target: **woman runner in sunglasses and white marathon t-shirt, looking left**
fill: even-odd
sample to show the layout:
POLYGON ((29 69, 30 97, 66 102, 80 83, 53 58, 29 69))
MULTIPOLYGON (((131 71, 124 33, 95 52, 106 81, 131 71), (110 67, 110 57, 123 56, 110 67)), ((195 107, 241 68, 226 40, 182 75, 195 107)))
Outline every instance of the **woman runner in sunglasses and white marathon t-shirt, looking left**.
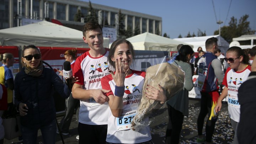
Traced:
POLYGON ((215 112, 218 113, 222 108, 222 100, 228 96, 228 111, 231 119, 231 125, 235 131, 233 144, 238 144, 236 137, 236 128, 240 120, 240 104, 238 100, 238 88, 242 82, 246 81, 251 72, 249 57, 240 47, 231 47, 226 51, 226 58, 229 64, 226 70, 222 84, 225 85, 220 95, 215 112))

